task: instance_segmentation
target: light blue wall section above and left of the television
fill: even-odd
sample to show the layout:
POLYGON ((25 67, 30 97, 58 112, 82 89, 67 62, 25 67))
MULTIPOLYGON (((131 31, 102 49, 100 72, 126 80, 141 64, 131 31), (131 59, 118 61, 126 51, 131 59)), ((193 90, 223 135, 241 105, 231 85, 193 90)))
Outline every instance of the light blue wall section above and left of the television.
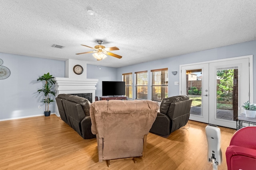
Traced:
POLYGON ((117 81, 117 68, 87 64, 87 78, 99 79, 95 96, 100 97, 102 96, 102 81, 117 81))

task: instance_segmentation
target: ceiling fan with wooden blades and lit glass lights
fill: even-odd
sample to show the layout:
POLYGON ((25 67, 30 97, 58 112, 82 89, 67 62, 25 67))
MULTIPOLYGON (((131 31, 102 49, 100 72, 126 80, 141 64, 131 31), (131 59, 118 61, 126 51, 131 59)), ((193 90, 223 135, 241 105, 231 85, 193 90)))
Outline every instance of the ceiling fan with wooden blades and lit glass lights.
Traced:
POLYGON ((101 45, 103 43, 102 40, 97 40, 99 45, 96 45, 94 48, 93 47, 89 47, 87 45, 82 45, 84 47, 89 47, 91 49, 94 49, 94 51, 89 51, 89 52, 84 52, 84 53, 77 53, 77 55, 79 54, 86 54, 86 53, 94 53, 93 57, 97 59, 97 61, 105 59, 107 56, 106 55, 111 55, 113 57, 116 57, 118 59, 121 59, 122 56, 114 54, 114 53, 110 53, 109 51, 114 51, 114 50, 119 50, 118 47, 109 47, 106 48, 105 46, 101 45))

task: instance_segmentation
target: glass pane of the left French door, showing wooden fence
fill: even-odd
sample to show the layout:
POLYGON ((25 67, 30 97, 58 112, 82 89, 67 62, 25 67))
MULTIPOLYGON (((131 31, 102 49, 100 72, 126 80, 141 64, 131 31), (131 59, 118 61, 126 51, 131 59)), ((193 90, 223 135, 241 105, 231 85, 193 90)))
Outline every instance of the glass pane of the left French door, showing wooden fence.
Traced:
POLYGON ((202 69, 186 70, 187 95, 192 99, 190 114, 202 116, 202 69))

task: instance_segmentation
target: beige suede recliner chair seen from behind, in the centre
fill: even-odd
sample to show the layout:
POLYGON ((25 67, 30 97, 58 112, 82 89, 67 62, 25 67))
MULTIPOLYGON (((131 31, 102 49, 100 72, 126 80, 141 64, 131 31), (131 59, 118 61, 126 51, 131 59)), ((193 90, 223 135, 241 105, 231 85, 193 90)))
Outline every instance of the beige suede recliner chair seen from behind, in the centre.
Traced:
POLYGON ((145 156, 148 132, 159 106, 150 100, 100 100, 90 106, 99 162, 145 156))

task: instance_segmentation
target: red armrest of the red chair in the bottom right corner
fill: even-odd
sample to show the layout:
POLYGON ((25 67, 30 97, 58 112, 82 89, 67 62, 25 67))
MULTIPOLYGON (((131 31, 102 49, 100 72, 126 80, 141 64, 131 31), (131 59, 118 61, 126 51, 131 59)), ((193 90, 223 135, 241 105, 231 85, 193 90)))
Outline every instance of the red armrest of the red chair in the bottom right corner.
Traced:
POLYGON ((238 146, 229 146, 226 150, 228 170, 252 170, 256 165, 256 150, 238 146))

